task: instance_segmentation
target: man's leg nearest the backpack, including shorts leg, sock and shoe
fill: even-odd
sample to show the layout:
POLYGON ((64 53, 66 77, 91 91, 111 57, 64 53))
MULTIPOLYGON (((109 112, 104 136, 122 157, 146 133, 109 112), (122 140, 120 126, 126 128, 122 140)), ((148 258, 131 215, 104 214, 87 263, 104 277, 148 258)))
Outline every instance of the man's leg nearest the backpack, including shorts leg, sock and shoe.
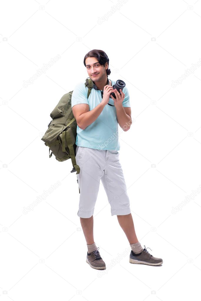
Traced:
POLYGON ((86 262, 95 269, 105 269, 106 265, 94 243, 93 226, 94 226, 94 206, 97 199, 97 194, 100 185, 100 178, 104 174, 104 150, 88 147, 79 147, 76 153, 76 163, 80 167, 80 172, 77 174, 80 199, 79 210, 77 215, 80 217, 80 223, 85 235, 87 243, 86 262))

